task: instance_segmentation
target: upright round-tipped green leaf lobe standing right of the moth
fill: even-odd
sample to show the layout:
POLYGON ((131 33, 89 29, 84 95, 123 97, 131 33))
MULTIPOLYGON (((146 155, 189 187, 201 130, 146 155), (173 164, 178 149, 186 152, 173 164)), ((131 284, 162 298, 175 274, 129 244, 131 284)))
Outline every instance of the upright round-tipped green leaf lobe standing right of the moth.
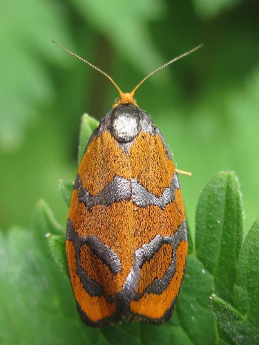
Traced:
POLYGON ((233 302, 243 236, 242 217, 238 179, 233 172, 220 172, 209 181, 200 196, 195 253, 213 275, 215 292, 228 302, 233 302))

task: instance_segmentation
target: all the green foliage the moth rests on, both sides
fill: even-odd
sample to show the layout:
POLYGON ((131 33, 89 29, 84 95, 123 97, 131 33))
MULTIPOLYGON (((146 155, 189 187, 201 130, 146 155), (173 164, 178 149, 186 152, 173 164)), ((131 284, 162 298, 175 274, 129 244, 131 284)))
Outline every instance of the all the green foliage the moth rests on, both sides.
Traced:
MULTIPOLYGON (((81 146, 92 124, 97 125, 94 119, 82 117, 81 146)), ((72 186, 72 181, 60 183, 66 204, 72 186)), ((238 179, 233 172, 220 172, 200 195, 195 242, 190 238, 184 282, 171 320, 161 326, 124 323, 93 329, 81 322, 75 307, 65 230, 40 201, 32 230, 12 228, 0 237, 0 342, 257 344, 259 218, 244 242, 242 237, 238 179)))

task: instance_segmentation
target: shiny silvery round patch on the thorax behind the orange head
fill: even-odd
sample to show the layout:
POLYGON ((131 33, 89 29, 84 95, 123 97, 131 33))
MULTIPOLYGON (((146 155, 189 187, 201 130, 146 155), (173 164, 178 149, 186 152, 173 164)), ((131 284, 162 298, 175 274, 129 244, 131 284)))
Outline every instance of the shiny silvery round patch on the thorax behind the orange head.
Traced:
POLYGON ((140 113, 136 106, 117 106, 111 113, 110 130, 119 143, 129 143, 140 132, 140 113))

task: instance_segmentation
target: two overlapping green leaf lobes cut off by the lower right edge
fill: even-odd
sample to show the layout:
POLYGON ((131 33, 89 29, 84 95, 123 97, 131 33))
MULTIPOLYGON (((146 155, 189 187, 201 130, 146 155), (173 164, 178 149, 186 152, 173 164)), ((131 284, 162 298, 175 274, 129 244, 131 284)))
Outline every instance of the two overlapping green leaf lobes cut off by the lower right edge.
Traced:
POLYGON ((259 217, 244 239, 238 261, 233 304, 213 295, 218 324, 236 344, 259 343, 259 217))

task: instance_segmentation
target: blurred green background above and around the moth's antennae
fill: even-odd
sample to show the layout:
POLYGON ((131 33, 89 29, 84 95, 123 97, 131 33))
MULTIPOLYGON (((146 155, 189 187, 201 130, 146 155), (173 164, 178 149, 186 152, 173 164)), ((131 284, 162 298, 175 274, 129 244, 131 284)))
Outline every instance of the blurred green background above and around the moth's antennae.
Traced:
POLYGON ((162 131, 193 229, 202 186, 219 170, 240 178, 245 227, 259 204, 259 3, 241 0, 1 0, 0 227, 28 226, 39 198, 66 224, 57 187, 75 178, 80 117, 101 119, 117 91, 57 48, 108 72, 122 90, 155 75, 135 98, 162 131))

